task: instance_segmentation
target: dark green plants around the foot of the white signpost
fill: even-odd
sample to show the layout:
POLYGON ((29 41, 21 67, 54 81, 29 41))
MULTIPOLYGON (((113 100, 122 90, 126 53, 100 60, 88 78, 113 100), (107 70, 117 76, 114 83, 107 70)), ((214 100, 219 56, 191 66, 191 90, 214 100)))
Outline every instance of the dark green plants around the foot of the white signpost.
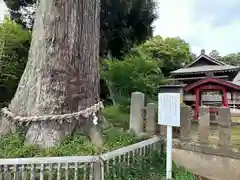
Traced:
MULTIPOLYGON (((161 180, 166 173, 166 155, 157 151, 149 152, 142 156, 130 158, 130 165, 121 157, 116 159, 115 164, 110 166, 110 171, 105 177, 107 180, 161 180)), ((173 178, 176 180, 196 180, 196 177, 178 168, 173 163, 173 178)))

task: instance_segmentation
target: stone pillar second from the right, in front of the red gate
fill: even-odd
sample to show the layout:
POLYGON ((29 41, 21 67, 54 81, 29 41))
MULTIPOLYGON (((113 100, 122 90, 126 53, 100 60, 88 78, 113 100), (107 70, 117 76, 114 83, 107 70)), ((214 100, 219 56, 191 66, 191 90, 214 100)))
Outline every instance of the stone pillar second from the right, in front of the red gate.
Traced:
POLYGON ((200 107, 199 108, 199 120, 198 120, 198 133, 199 133, 199 142, 200 144, 209 143, 209 129, 210 129, 210 117, 209 117, 209 108, 200 107))

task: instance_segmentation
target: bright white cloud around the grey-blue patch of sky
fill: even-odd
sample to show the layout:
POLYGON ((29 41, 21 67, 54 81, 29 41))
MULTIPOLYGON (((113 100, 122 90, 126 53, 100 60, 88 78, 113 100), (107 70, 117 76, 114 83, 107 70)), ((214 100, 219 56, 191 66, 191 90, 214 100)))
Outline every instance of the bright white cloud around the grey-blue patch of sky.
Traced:
POLYGON ((240 51, 240 20, 216 26, 213 23, 216 14, 209 13, 203 18, 196 18, 199 16, 196 14, 199 12, 196 11, 196 1, 199 0, 157 1, 159 19, 154 23, 155 35, 179 36, 186 40, 197 54, 201 49, 207 52, 215 49, 222 55, 240 51))

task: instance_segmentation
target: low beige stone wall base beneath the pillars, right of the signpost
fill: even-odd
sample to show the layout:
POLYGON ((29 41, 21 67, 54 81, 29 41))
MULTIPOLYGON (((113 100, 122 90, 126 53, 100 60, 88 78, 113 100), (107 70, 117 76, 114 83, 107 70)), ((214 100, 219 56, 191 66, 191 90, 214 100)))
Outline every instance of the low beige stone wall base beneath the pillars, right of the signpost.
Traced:
POLYGON ((211 180, 240 179, 240 159, 173 148, 173 160, 178 166, 211 180))

